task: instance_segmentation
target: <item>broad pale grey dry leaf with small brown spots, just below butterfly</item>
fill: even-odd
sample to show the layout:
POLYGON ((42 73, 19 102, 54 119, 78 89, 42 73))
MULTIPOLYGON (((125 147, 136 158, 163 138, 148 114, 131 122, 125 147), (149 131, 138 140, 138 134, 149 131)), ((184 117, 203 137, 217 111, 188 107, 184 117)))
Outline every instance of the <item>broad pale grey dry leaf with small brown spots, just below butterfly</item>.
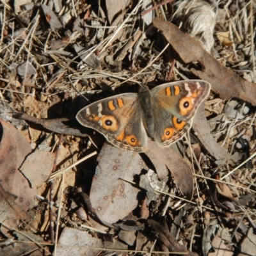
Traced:
POLYGON ((126 152, 107 143, 97 158, 90 200, 100 220, 115 223, 122 220, 138 205, 140 191, 121 179, 134 180, 145 165, 139 154, 126 152))

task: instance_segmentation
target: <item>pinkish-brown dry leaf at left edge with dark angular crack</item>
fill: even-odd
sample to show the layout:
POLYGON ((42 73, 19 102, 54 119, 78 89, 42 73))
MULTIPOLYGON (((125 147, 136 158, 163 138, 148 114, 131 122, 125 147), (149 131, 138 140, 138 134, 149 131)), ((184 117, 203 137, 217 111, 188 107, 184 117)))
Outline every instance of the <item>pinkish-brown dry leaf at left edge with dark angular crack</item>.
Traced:
POLYGON ((54 158, 51 153, 39 150, 30 154, 31 147, 20 132, 3 120, 1 125, 1 186, 6 192, 17 196, 15 203, 26 211, 35 196, 36 188, 51 173, 54 158))

